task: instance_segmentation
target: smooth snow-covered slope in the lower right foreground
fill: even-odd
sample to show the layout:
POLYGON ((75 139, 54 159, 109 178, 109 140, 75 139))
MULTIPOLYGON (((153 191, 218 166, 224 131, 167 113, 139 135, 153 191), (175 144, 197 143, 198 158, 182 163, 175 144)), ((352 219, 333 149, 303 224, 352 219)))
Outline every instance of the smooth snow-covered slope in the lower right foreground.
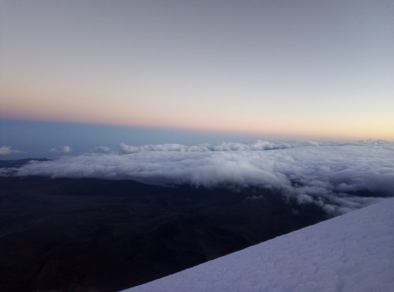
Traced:
POLYGON ((393 292, 394 199, 125 292, 393 292))

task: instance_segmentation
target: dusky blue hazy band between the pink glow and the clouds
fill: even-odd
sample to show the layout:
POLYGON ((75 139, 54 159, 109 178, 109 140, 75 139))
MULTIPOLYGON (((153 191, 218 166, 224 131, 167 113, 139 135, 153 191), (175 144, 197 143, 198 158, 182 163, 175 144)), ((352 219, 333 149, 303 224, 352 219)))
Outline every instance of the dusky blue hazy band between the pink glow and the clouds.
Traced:
POLYGON ((118 149, 128 145, 179 143, 248 142, 257 139, 286 140, 284 136, 202 130, 130 127, 44 121, 0 120, 0 145, 24 153, 4 155, 0 159, 55 158, 62 155, 90 153, 99 146, 118 149), (51 152, 58 146, 69 146, 69 153, 51 152))

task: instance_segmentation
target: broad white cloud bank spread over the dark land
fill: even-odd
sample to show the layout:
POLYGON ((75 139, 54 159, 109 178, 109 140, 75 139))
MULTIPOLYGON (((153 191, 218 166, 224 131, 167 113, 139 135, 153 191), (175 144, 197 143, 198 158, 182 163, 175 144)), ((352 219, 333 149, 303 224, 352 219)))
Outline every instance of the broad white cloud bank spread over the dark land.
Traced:
POLYGON ((121 149, 130 154, 33 161, 0 173, 196 187, 262 187, 300 204, 317 204, 330 213, 344 213, 394 195, 394 144, 385 141, 121 144, 121 149), (262 151, 267 149, 271 150, 262 151))

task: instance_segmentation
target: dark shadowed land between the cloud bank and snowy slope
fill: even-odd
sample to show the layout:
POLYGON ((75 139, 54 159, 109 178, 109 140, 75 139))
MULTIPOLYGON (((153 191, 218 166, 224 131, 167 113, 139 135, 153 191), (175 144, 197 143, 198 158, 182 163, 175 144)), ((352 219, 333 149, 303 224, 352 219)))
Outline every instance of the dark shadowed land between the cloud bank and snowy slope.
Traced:
POLYGON ((0 177, 0 291, 116 292, 327 218, 259 188, 0 177))

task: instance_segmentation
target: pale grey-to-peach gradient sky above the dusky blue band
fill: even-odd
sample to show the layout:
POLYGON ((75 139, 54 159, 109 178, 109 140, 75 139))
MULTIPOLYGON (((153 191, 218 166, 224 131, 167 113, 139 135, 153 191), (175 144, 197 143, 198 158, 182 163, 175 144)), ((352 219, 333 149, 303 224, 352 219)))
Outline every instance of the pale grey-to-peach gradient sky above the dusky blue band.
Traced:
POLYGON ((393 15, 388 0, 0 0, 0 116, 394 141, 393 15))

